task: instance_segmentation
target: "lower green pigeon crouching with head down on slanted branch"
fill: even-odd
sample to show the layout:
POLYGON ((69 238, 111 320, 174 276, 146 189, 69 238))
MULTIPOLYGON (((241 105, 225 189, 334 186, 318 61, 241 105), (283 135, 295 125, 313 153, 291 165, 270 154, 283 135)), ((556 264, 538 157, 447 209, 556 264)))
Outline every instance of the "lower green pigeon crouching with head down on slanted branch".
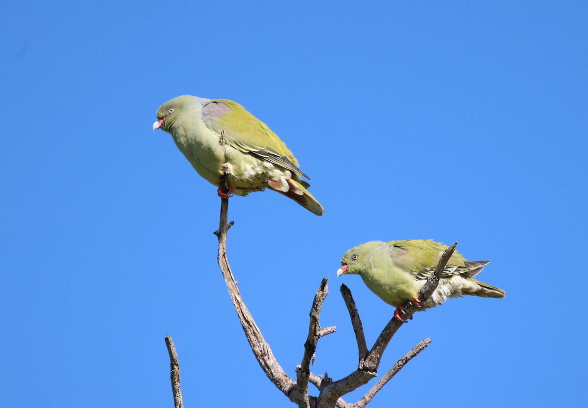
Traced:
MULTIPOLYGON (((435 270, 446 245, 432 240, 372 241, 345 252, 337 276, 359 275, 369 289, 389 305, 395 306, 394 316, 401 322, 403 305, 419 305, 419 290, 435 270)), ((440 305, 447 297, 474 295, 505 297, 505 291, 473 279, 489 260, 468 261, 453 252, 439 286, 425 302, 425 307, 440 305)))

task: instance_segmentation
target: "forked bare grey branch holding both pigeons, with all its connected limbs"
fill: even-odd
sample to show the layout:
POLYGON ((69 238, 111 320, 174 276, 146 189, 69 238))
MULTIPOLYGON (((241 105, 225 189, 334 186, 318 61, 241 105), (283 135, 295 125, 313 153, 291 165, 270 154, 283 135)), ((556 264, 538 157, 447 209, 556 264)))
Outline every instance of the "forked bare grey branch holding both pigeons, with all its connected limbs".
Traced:
MULTIPOLYGON (((219 189, 223 193, 229 192, 226 185, 226 175, 221 177, 219 182, 219 189)), ((303 355, 302 364, 300 364, 296 370, 298 383, 290 379, 273 356, 272 350, 270 349, 268 343, 266 343, 263 339, 262 333, 255 324, 253 317, 249 313, 249 310, 245 306, 245 303, 239 294, 235 278, 233 277, 233 274, 230 270, 229 262, 226 257, 226 234, 233 223, 231 222, 230 225, 227 223, 228 207, 229 200, 222 198, 220 201, 219 229, 215 232, 215 235, 219 241, 218 263, 220 266, 220 271, 222 272, 223 279, 225 279, 225 284, 227 290, 229 291, 230 299, 233 302, 233 306, 235 307, 235 311, 237 312, 243 327, 243 331, 245 332, 245 336, 247 337, 253 354, 258 360, 258 363, 260 367, 262 367, 266 376, 268 376, 270 381, 272 381, 272 383, 275 384, 275 386, 278 387, 278 389, 281 390, 290 401, 298 403, 299 407, 303 408, 332 408, 334 406, 338 406, 340 408, 362 408, 372 399, 373 395, 375 395, 379 389, 381 389, 400 369, 402 369, 406 362, 408 362, 413 356, 416 356, 420 350, 424 349, 426 345, 422 346, 422 348, 419 348, 420 344, 423 342, 419 343, 415 349, 411 350, 411 352, 400 359, 395 364, 395 366, 393 366, 392 369, 390 369, 389 372, 387 372, 385 376, 383 376, 382 379, 380 379, 380 381, 372 387, 372 389, 368 392, 368 394, 366 394, 366 396, 362 398, 362 400, 356 404, 346 403, 341 399, 341 396, 357 389, 363 384, 368 383, 370 379, 377 376, 377 368, 379 367, 380 360, 382 359, 382 353, 386 349, 386 346, 390 342, 392 336, 396 333, 403 322, 392 318, 380 336, 377 338, 376 342, 372 346, 372 349, 370 349, 368 352, 368 347, 365 342, 365 335, 363 333, 363 326, 361 320, 359 319, 359 313, 355 307, 355 302, 353 302, 353 297, 351 296, 349 289, 345 285, 342 285, 341 292, 348 307, 349 316, 352 320, 353 330, 358 342, 358 369, 343 379, 337 381, 330 379, 326 373, 324 379, 313 376, 310 373, 309 366, 310 360, 313 361, 314 359, 318 339, 319 337, 327 335, 328 333, 335 332, 335 327, 326 327, 323 329, 319 325, 320 308, 322 307, 322 303, 326 297, 326 294, 328 293, 326 290, 327 281, 326 279, 323 279, 323 282, 321 283, 321 286, 316 293, 313 307, 310 311, 309 334, 305 343, 305 352, 303 355), (318 397, 309 396, 309 381, 319 387, 318 397), (363 405, 360 406, 360 403, 363 405)), ((443 253, 435 272, 429 276, 427 282, 420 290, 419 296, 423 302, 429 299, 439 284, 440 273, 445 268, 447 260, 449 260, 453 250, 455 250, 456 244, 457 243, 450 246, 445 251, 445 253, 443 253)), ((419 310, 418 305, 415 306, 412 305, 412 303, 408 303, 405 306, 405 318, 412 318, 412 315, 414 312, 416 312, 416 310, 419 310)), ((423 341, 430 342, 428 339, 423 341)))

